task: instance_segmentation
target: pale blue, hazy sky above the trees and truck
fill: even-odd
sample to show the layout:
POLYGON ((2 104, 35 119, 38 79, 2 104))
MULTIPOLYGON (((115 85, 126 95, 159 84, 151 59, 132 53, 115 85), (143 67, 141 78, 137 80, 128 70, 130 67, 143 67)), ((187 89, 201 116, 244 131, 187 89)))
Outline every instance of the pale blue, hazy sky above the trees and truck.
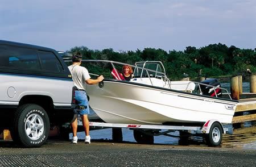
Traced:
POLYGON ((0 0, 0 40, 72 47, 184 51, 256 48, 255 0, 0 0))

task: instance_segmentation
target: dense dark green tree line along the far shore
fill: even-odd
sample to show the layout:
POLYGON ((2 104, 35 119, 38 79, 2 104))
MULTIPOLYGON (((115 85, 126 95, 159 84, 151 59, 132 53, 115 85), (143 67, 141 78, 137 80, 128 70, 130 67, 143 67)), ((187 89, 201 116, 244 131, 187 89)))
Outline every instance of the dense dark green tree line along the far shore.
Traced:
POLYGON ((163 49, 144 48, 143 51, 119 51, 112 48, 92 50, 87 47, 73 47, 69 51, 79 51, 84 59, 100 59, 135 64, 137 61, 162 61, 167 76, 172 80, 179 80, 188 75, 196 78, 229 76, 245 74, 247 69, 256 72, 256 48, 240 49, 235 46, 227 47, 225 44, 209 44, 196 48, 186 47, 184 51, 164 51, 163 49), (199 71, 201 70, 201 73, 199 71), (184 76, 184 74, 187 74, 184 76))

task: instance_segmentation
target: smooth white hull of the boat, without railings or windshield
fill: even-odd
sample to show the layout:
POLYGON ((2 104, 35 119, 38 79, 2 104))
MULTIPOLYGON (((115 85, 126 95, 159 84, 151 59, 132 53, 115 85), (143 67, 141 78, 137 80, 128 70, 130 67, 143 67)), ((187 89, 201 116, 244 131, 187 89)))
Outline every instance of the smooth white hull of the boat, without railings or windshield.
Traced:
POLYGON ((106 123, 231 123, 236 102, 125 81, 88 85, 90 106, 106 123))

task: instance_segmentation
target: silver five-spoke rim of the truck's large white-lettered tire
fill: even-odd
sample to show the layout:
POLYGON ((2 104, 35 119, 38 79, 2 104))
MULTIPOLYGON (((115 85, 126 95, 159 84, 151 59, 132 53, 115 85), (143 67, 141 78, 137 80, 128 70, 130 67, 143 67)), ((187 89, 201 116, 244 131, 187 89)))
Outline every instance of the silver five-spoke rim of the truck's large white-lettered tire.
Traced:
POLYGON ((39 114, 31 114, 25 122, 25 131, 28 138, 38 140, 44 132, 44 121, 39 114))

